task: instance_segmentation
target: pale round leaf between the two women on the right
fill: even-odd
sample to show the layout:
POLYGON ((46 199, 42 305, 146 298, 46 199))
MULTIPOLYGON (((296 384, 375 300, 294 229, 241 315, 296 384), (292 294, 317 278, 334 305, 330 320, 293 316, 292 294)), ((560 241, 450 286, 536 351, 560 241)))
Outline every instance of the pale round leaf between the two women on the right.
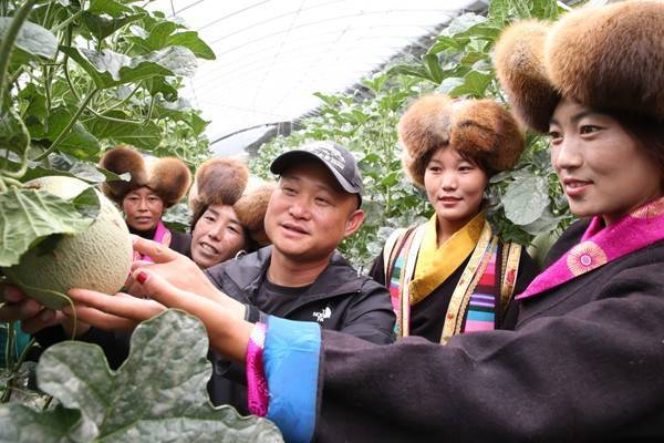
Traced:
POLYGON ((501 202, 510 222, 529 225, 540 218, 549 206, 547 179, 536 175, 516 179, 507 186, 501 202))

